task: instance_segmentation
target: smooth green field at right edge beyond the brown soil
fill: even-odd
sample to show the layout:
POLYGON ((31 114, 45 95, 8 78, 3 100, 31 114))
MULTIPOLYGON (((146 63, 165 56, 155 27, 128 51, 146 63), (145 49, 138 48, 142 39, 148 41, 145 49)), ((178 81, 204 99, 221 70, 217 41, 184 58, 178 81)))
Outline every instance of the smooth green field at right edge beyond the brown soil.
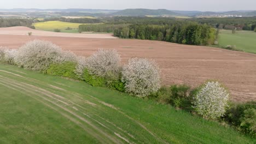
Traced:
POLYGON ((253 31, 232 31, 222 30, 219 33, 219 46, 236 45, 237 49, 245 52, 256 53, 256 33, 253 31))

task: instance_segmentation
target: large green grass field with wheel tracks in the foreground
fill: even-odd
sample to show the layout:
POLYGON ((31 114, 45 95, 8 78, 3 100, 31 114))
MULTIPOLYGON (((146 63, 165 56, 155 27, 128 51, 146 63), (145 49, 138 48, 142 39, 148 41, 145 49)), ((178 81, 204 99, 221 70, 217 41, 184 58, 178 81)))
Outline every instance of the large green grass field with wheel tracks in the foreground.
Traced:
POLYGON ((255 143, 190 113, 0 64, 0 143, 255 143))

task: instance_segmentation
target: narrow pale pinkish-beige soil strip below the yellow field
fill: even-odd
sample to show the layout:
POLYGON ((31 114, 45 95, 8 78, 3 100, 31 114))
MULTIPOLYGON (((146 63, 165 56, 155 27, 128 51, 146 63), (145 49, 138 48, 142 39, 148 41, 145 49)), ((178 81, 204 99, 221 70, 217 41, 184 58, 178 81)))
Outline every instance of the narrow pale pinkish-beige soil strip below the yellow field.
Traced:
POLYGON ((101 39, 117 39, 113 34, 104 33, 56 33, 48 31, 39 31, 37 29, 31 29, 28 27, 7 27, 0 28, 0 35, 28 35, 28 32, 32 32, 32 35, 36 36, 53 36, 53 37, 74 37, 74 38, 101 38, 101 39))

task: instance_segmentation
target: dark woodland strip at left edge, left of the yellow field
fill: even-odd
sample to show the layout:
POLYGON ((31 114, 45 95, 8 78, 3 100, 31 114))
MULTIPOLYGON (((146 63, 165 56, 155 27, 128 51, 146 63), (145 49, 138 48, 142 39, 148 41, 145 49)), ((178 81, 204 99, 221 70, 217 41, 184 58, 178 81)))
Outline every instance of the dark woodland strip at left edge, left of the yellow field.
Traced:
POLYGON ((34 28, 30 19, 0 19, 0 27, 24 26, 34 28))

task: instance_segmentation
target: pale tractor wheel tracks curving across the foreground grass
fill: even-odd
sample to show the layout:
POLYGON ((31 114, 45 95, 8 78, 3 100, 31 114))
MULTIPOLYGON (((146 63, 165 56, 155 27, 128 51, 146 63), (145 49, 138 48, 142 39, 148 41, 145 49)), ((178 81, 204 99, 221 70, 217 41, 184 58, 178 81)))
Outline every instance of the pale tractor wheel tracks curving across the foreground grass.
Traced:
MULTIPOLYGON (((4 73, 7 73, 7 74, 10 74, 10 75, 13 75, 13 76, 17 76, 17 77, 20 77, 21 79, 25 79, 26 81, 30 81, 30 82, 35 82, 34 80, 36 79, 31 79, 29 77, 24 77, 24 76, 21 76, 21 75, 17 75, 17 74, 14 74, 14 73, 11 73, 9 71, 5 71, 5 70, 1 70, 2 72, 4 73)), ((17 80, 13 80, 13 79, 8 79, 7 77, 3 77, 0 75, 0 80, 2 83, 0 83, 1 85, 3 85, 3 82, 5 83, 5 86, 6 85, 9 85, 7 87, 9 88, 13 88, 13 87, 16 87, 16 91, 19 91, 17 88, 19 89, 22 89, 22 91, 25 92, 25 94, 27 93, 32 93, 32 94, 35 94, 35 95, 38 95, 38 97, 44 99, 45 101, 47 101, 48 103, 51 103, 57 107, 59 107, 60 109, 62 109, 63 111, 65 112, 68 112, 70 115, 73 115, 75 116, 76 118, 78 118, 80 121, 83 121, 85 123, 90 123, 88 120, 86 120, 84 117, 78 115, 76 112, 80 112, 81 109, 87 111, 88 110, 88 107, 83 107, 79 104, 76 104, 76 103, 73 103, 73 101, 71 100, 68 100, 67 98, 65 97, 62 97, 61 95, 59 94, 55 94, 55 93, 51 93, 49 91, 47 91, 46 89, 43 89, 43 88, 39 88, 37 86, 34 86, 34 85, 30 85, 28 83, 25 83, 25 82, 20 82, 20 81, 17 81, 17 80), (11 85, 11 87, 10 87, 11 85), (47 98, 45 98, 45 96, 47 98), (50 100, 52 99, 52 100, 50 100), (64 105, 64 106, 63 106, 64 105), (75 107, 76 106, 76 107, 75 107), (69 107, 69 109, 67 108, 69 107), (71 109, 71 110, 70 110, 71 109), (73 112, 72 110, 75 110, 76 112, 73 112)), ((38 81, 38 80, 37 80, 38 81)), ((39 81, 38 81, 39 82, 39 81)), ((51 88, 54 88, 54 89, 58 89, 58 90, 61 90, 60 88, 56 88, 56 87, 52 87, 50 86, 51 88)), ((14 89, 14 88, 13 88, 14 89)), ((61 93, 63 92, 66 92, 66 91, 62 91, 61 90, 61 93)), ((29 95, 30 97, 32 97, 31 95, 29 95)), ((110 107, 110 109, 113 109, 115 111, 118 111, 119 113, 121 113, 122 115, 124 115, 125 117, 131 119, 133 122, 135 122, 136 124, 139 125, 139 127, 143 128, 144 130, 146 130, 150 135, 152 135, 153 137, 155 137, 156 140, 159 140, 159 141, 162 141, 164 143, 166 143, 164 140, 161 140, 159 139, 155 134, 153 134, 151 131, 149 131, 143 124, 141 124, 140 122, 138 122, 137 120, 131 118, 130 116, 126 115, 124 112, 120 111, 117 107, 114 107, 113 105, 110 105, 110 104, 107 104, 107 103, 104 103, 103 101, 100 101, 99 99, 95 98, 95 97, 92 97, 92 95, 88 94, 88 96, 91 98, 92 101, 89 101, 89 100, 84 100, 82 98, 82 95, 78 94, 78 93, 75 93, 75 94, 72 94, 72 96, 74 97, 78 97, 79 100, 82 100, 85 104, 89 104, 91 106, 96 106, 98 110, 100 109, 104 109, 104 107, 110 107), (98 103, 98 104, 95 104, 98 103)), ((33 98, 33 97, 32 97, 33 98)), ((38 100, 38 99, 37 99, 38 100)), ((40 100, 40 102, 42 103, 42 100, 40 100)), ((45 102, 43 103, 45 104, 45 102)), ((48 107, 48 105, 46 105, 48 107)), ((53 106, 51 106, 50 108, 53 108, 53 106)), ((94 108, 95 109, 95 108, 94 108)), ((90 107, 90 110, 94 110, 90 107)), ((55 111, 59 112, 61 115, 65 116, 66 118, 68 118, 68 115, 66 115, 65 113, 63 112, 60 112, 58 111, 57 109, 54 109, 55 111)), ((94 110, 95 111, 95 110, 94 110)), ((115 125, 114 123, 112 122, 109 122, 107 121, 106 119, 98 116, 95 114, 96 112, 88 112, 87 114, 83 113, 84 116, 87 116, 88 119, 90 119, 91 121, 94 121, 96 122, 97 124, 100 124, 102 127, 112 131, 112 134, 114 134, 114 136, 117 136, 119 139, 127 142, 127 143, 132 143, 129 141, 129 139, 133 139, 133 141, 137 141, 135 136, 133 136, 132 134, 129 134, 127 133, 126 130, 123 130, 121 128, 119 128, 117 125, 115 125), (97 118, 100 118, 102 122, 104 123, 107 123, 106 124, 103 124, 101 121, 97 121, 96 119, 92 118, 91 116, 89 116, 89 113, 91 113, 91 115, 94 115, 96 116, 97 118), (110 129, 110 128, 112 129, 110 129), (114 128, 114 130, 113 130, 114 128), (129 139, 127 139, 128 137, 130 137, 129 139)), ((69 116, 70 117, 70 116, 69 116)), ((72 117, 71 117, 72 118, 72 117)), ((70 119, 70 118, 68 118, 70 119)), ((81 125, 81 123, 75 119, 70 119, 72 122, 78 124, 79 126, 81 125), (79 122, 79 123, 78 123, 79 122)), ((92 128, 96 129, 96 130, 99 130, 101 131, 101 129, 98 129, 95 125, 93 124, 89 124, 92 128)), ((83 126, 84 127, 84 126, 83 126)), ((84 129, 84 128, 83 128, 84 129)), ((86 129, 88 131, 88 129, 86 129)), ((103 133, 103 132, 101 132, 103 133)), ((92 133, 93 134, 93 133, 92 133)), ((107 134, 104 134, 106 137, 108 137, 109 140, 112 140, 112 142, 115 142, 115 143, 121 143, 121 141, 118 141, 118 139, 116 138, 113 138, 113 136, 109 136, 107 134)), ((95 134, 93 135, 95 136, 95 134)), ((100 136, 95 136, 97 139, 100 137, 100 136)), ((142 136, 143 137, 143 136, 142 136)))

